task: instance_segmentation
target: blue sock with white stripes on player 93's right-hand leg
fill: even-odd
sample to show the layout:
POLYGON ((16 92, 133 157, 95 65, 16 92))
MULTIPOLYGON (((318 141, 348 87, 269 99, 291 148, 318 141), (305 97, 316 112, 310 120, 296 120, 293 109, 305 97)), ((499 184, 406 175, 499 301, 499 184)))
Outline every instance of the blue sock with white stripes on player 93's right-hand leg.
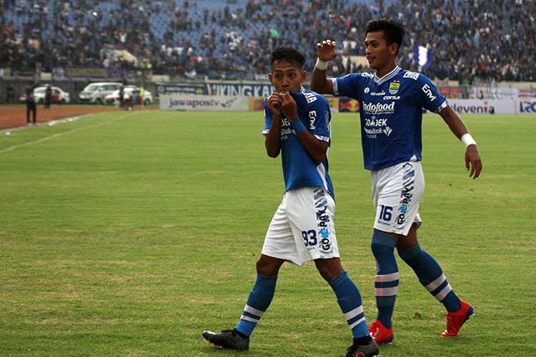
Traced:
POLYGON ((339 303, 344 318, 352 330, 354 340, 369 336, 367 321, 364 319, 361 293, 346 271, 332 278, 329 281, 329 286, 332 287, 335 296, 337 296, 337 303, 339 303))

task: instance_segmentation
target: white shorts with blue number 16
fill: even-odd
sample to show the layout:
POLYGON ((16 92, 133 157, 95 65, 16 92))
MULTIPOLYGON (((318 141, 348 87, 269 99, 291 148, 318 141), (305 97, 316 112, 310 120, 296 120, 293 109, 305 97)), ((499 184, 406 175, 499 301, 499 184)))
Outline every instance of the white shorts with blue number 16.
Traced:
POLYGON ((406 161, 371 171, 372 201, 376 207, 374 228, 407 236, 413 223, 422 224, 419 205, 425 193, 420 161, 406 161))

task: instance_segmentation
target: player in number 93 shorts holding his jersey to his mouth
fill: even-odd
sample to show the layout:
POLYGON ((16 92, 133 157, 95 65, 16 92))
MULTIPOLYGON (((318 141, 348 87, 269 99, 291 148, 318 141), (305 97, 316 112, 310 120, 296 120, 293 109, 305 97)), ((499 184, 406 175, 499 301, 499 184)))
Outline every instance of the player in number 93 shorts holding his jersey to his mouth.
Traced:
POLYGON ((249 293, 238 325, 221 333, 204 331, 214 345, 247 350, 249 336, 274 296, 277 273, 285 261, 302 266, 314 261, 332 287, 352 330, 347 356, 375 356, 364 319, 361 295, 342 268, 334 228, 334 191, 328 174, 331 112, 323 96, 302 83, 304 56, 291 47, 272 52, 268 78, 276 91, 264 101, 265 146, 268 156, 282 156, 285 193, 269 225, 257 261, 257 281, 249 293))

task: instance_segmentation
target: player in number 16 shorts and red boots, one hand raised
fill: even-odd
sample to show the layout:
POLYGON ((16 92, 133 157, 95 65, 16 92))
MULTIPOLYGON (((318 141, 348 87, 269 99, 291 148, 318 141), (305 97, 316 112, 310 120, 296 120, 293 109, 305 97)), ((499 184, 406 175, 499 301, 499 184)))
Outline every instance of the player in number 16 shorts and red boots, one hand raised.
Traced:
POLYGON ((477 143, 430 79, 397 66, 404 34, 396 21, 369 21, 365 56, 375 73, 352 73, 334 79, 327 79, 325 69, 337 56, 336 44, 322 41, 317 44, 318 59, 311 81, 312 90, 318 93, 359 101, 364 167, 371 171, 376 208, 372 253, 377 263, 374 286, 378 316, 369 331, 377 343, 393 339, 391 318, 399 281, 395 247, 420 283, 447 308, 447 329, 441 336, 457 336, 473 313, 472 306, 452 290, 439 263, 417 241, 417 228, 422 223, 418 209, 425 191, 420 164, 422 108, 440 114, 465 144, 465 166, 470 177, 480 176, 482 163, 477 143))

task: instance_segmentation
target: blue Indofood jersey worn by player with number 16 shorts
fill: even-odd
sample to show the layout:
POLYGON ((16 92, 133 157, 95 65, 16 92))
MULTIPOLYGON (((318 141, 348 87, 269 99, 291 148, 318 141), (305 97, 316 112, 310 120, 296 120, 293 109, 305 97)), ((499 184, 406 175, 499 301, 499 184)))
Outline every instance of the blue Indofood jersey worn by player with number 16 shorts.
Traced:
POLYGON ((359 101, 365 169, 422 159, 422 108, 439 113, 447 106, 430 79, 397 66, 381 79, 353 73, 332 81, 336 96, 359 101))

